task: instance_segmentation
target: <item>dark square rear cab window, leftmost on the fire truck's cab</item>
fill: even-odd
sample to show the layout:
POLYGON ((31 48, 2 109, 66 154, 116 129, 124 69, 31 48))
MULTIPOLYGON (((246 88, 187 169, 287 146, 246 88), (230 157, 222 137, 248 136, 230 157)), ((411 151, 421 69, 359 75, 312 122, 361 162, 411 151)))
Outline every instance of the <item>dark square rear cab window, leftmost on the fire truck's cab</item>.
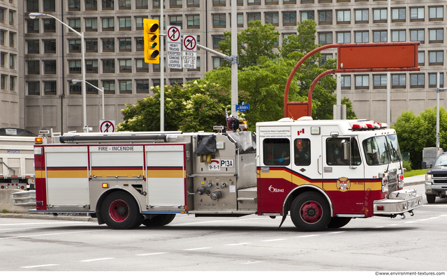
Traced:
POLYGON ((265 165, 287 166, 291 163, 289 139, 264 139, 263 159, 265 165))

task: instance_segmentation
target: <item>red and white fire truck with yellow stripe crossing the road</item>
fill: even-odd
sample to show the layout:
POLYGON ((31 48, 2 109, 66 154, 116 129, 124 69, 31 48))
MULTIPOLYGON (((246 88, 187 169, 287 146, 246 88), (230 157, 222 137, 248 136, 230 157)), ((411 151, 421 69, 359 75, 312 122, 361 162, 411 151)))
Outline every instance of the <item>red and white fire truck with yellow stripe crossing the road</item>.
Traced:
MULTIPOLYGON (((112 229, 196 217, 290 215, 300 231, 422 206, 404 190, 395 130, 372 121, 298 120, 249 131, 41 132, 36 213, 87 213, 112 229)), ((281 227, 279 224, 279 227, 281 227)))

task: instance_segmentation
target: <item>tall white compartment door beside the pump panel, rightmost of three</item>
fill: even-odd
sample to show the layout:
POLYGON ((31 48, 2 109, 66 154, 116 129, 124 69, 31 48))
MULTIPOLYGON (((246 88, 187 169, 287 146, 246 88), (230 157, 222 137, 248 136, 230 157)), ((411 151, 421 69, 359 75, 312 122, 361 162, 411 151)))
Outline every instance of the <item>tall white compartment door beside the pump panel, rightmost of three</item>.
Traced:
POLYGON ((147 206, 179 210, 186 202, 183 145, 145 146, 147 206))

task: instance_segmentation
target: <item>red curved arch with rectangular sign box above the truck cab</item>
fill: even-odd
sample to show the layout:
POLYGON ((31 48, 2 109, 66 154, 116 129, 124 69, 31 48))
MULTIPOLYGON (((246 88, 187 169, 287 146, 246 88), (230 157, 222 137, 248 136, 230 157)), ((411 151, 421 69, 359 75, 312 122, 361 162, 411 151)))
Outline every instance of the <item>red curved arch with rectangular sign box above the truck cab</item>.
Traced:
POLYGON ((348 43, 329 44, 307 53, 296 63, 288 76, 284 91, 284 117, 297 119, 312 116, 312 91, 316 83, 325 75, 347 72, 395 72, 419 71, 419 42, 410 43, 348 43), (309 88, 307 102, 288 102, 288 89, 295 72, 310 56, 323 49, 337 48, 337 69, 322 72, 309 88))

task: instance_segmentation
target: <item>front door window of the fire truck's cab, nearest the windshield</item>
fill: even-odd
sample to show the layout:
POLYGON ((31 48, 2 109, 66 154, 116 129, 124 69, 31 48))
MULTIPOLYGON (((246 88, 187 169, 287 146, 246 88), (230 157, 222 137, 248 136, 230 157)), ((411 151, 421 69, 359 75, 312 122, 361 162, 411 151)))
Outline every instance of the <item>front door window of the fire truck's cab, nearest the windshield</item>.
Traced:
POLYGON ((328 138, 326 139, 326 163, 328 165, 358 166, 362 164, 360 151, 356 139, 328 138), (351 144, 349 144, 351 141, 351 144), (344 157, 343 149, 348 148, 348 155, 344 157))

